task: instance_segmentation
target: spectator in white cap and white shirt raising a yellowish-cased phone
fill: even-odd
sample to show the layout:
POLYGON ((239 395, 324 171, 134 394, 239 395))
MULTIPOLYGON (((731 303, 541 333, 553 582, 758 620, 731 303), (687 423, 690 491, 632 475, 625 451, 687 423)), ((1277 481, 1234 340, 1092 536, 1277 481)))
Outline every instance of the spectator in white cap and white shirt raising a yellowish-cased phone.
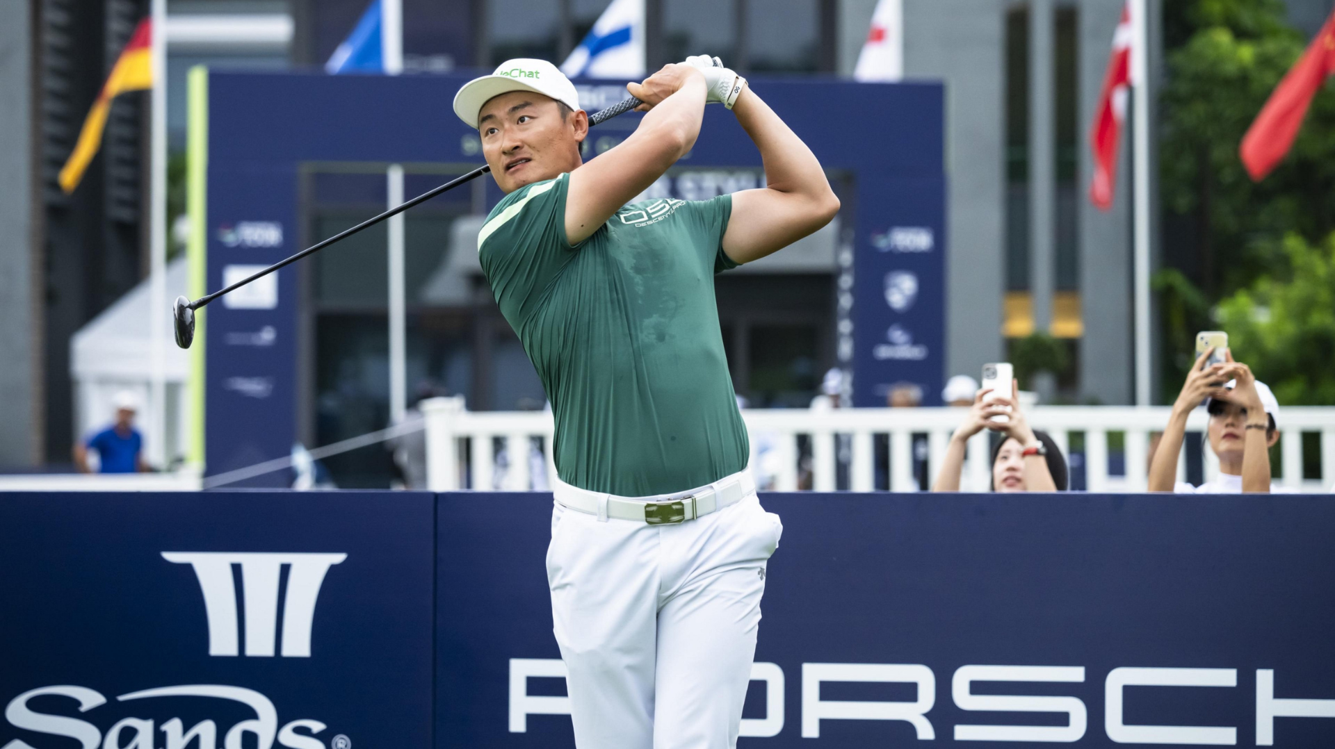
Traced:
POLYGON ((1179 494, 1282 493, 1271 486, 1270 447, 1279 441, 1279 401, 1270 387, 1235 362, 1224 350, 1224 362, 1206 366, 1207 350, 1187 375, 1172 406, 1159 449, 1149 465, 1149 491, 1179 494), (1219 457, 1219 477, 1200 486, 1176 481, 1177 454, 1187 431, 1187 417, 1202 401, 1210 411, 1210 449, 1219 457))

